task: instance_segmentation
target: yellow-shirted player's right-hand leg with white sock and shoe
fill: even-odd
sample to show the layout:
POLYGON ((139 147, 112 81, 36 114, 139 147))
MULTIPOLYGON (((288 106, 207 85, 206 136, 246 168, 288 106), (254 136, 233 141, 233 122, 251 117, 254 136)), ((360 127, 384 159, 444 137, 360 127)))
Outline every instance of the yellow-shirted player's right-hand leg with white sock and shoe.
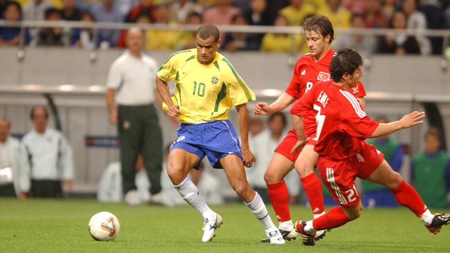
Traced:
POLYGON ((280 231, 273 224, 269 212, 259 194, 250 188, 245 175, 242 159, 236 155, 227 155, 220 159, 220 164, 224 168, 226 178, 231 187, 244 201, 244 204, 252 211, 255 217, 261 222, 266 231, 266 235, 273 244, 283 244, 284 239, 280 231))

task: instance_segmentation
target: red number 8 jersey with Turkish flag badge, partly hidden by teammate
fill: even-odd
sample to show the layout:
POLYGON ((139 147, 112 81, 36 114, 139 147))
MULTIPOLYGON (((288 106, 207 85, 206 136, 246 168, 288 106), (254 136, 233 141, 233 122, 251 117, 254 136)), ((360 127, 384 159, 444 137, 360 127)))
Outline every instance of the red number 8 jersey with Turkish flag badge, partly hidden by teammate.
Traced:
MULTIPOLYGON (((300 99, 316 82, 331 80, 329 68, 334 55, 335 52, 330 48, 318 62, 314 61, 313 56, 309 53, 300 57, 295 63, 294 74, 285 92, 295 99, 300 99)), ((358 86, 352 90, 352 93, 355 97, 365 96, 364 85, 359 82, 358 86)), ((304 117, 303 125, 307 136, 311 136, 316 131, 317 125, 314 115, 305 115, 304 117)))

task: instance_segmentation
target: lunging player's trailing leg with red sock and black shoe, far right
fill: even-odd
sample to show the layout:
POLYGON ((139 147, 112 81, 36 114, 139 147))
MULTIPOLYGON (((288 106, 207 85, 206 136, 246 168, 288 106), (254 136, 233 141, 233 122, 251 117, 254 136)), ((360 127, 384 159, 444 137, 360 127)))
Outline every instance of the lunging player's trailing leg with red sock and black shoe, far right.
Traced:
POLYGON ((400 205, 408 207, 414 212, 425 227, 433 234, 437 234, 443 225, 450 224, 449 214, 432 214, 423 203, 417 191, 402 176, 393 171, 386 160, 367 178, 368 181, 386 186, 392 190, 400 205))

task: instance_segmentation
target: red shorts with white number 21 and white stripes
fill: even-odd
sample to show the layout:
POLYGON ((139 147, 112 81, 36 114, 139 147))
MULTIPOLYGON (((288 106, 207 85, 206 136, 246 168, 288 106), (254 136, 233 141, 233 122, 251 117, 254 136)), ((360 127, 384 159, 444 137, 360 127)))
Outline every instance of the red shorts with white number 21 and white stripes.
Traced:
POLYGON ((359 193, 354 185, 356 177, 369 177, 381 162, 384 155, 375 146, 364 143, 355 156, 334 160, 319 156, 317 169, 322 182, 341 206, 354 207, 359 204, 359 193))

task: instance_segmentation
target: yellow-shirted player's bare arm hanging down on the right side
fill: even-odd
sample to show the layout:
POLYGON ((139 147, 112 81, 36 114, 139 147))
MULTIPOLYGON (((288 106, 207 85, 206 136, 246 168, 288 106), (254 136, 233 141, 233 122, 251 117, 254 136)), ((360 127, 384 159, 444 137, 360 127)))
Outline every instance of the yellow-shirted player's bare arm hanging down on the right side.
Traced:
POLYGON ((241 153, 244 157, 245 167, 252 167, 255 162, 255 156, 248 144, 248 111, 247 104, 237 105, 236 111, 238 111, 239 130, 241 132, 241 153))

